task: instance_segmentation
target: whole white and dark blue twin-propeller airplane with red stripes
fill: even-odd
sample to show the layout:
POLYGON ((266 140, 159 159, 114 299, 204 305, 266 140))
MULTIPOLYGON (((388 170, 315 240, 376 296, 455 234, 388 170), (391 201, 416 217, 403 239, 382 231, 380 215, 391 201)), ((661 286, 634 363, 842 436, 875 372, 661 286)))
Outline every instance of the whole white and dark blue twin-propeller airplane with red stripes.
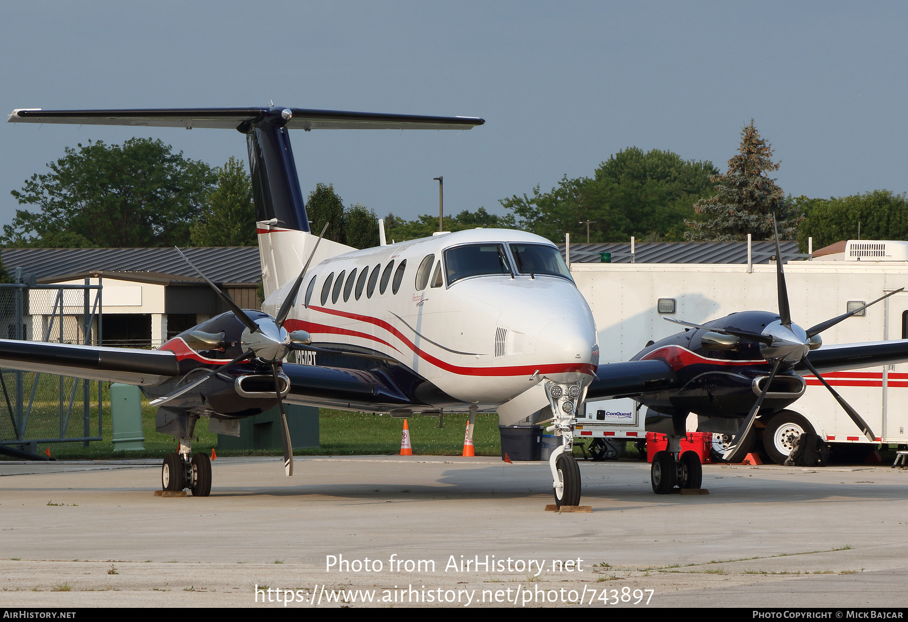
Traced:
POLYGON ((548 240, 478 229, 358 251, 310 232, 289 129, 464 130, 482 119, 270 107, 22 109, 9 121, 228 128, 246 135, 266 293, 262 308, 270 312, 241 310, 211 283, 232 311, 159 350, 0 340, 0 365, 7 368, 138 385, 159 406, 157 429, 180 442, 179 451, 164 459, 164 489, 210 493, 207 456, 191 456, 200 417, 210 419, 210 429, 230 434, 238 433, 243 418, 283 401, 396 416, 469 411, 471 421, 478 411, 497 411, 506 425, 548 406, 550 426, 562 440, 549 460, 556 503, 577 505, 580 472, 571 456, 577 409, 587 398, 609 397, 634 397, 672 416, 676 434, 654 461, 653 488, 696 488, 699 462, 679 453, 683 424, 678 428, 677 421, 687 412, 743 418, 728 454, 734 459, 756 417, 796 399, 790 389, 800 377, 792 370, 908 361, 904 341, 808 354, 811 344, 781 308, 780 263, 779 314, 735 314, 653 344, 635 360, 599 365, 592 313, 548 240), (313 352, 315 360, 308 362, 315 364, 286 362, 293 350, 313 352), (735 381, 706 379, 729 367, 735 381), (747 394, 755 400, 747 401, 745 416, 739 404, 747 394), (716 405, 717 396, 728 410, 716 405))

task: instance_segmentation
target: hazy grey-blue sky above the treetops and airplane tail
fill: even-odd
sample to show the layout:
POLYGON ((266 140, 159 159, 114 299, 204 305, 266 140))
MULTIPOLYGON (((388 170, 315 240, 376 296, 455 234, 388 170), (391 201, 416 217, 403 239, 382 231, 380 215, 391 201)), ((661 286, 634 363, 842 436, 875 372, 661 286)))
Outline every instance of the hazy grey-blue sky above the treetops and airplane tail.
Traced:
MULTIPOLYGON (((908 190, 908 4, 3 2, 0 112, 247 106, 481 116, 469 132, 291 134, 304 193, 333 183, 380 216, 548 190, 627 146, 721 169, 754 118, 786 193, 908 190)), ((4 123, 9 191, 130 128, 4 123)), ((246 159, 241 134, 145 129, 185 155, 246 159)))

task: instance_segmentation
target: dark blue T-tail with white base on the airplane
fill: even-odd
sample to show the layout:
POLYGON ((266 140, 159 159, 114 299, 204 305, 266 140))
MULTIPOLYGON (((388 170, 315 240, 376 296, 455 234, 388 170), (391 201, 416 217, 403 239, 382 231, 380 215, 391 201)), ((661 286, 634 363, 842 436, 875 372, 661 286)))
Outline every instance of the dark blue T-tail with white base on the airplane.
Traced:
MULTIPOLYGON (((14 110, 8 121, 217 128, 235 129, 246 134, 266 297, 297 278, 317 239, 310 232, 289 130, 469 130, 485 123, 476 117, 351 113, 281 106, 144 110, 23 108, 14 110)), ((349 246, 323 240, 312 265, 352 250, 349 246)))

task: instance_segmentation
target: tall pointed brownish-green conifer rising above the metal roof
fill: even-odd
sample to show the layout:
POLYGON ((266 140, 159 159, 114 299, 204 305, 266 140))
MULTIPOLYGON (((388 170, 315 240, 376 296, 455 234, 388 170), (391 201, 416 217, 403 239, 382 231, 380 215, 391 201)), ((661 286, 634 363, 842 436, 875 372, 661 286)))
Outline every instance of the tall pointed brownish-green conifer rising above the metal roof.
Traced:
POLYGON ((699 218, 686 221, 688 240, 754 240, 774 237, 773 217, 779 221, 779 235, 795 237, 800 214, 793 203, 783 201, 785 193, 766 173, 779 170, 773 150, 754 127, 754 120, 741 130, 741 146, 728 161, 728 171, 715 174, 716 194, 694 204, 699 218))

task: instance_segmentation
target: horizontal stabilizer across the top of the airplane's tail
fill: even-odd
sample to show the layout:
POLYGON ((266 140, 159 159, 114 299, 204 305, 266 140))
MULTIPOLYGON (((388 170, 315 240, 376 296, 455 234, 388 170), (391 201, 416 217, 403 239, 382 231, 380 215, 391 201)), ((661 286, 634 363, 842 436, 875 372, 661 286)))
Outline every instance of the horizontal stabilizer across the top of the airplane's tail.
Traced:
MULTIPOLYGON (((41 110, 17 108, 8 123, 76 123, 138 127, 205 127, 235 129, 269 108, 151 108, 134 110, 41 110)), ((278 110, 281 110, 280 108, 278 110)), ((286 110, 286 109, 285 109, 286 110)), ((290 108, 286 127, 310 130, 469 130, 485 120, 470 116, 353 113, 344 110, 290 108)))

